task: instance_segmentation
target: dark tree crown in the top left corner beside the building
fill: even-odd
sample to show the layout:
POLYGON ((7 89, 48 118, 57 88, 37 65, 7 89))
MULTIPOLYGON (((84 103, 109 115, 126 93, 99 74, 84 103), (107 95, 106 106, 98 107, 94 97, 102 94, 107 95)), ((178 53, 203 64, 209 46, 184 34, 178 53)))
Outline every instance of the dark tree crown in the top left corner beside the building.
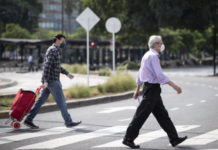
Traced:
POLYGON ((38 15, 42 10, 37 0, 1 0, 0 33, 8 23, 19 24, 30 32, 38 26, 38 15))

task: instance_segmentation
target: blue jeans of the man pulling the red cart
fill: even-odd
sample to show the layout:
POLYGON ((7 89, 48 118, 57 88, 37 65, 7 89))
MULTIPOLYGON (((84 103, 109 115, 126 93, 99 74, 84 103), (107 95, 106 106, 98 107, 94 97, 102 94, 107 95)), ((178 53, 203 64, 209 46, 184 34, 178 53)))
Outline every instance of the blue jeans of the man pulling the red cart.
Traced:
POLYGON ((72 119, 70 114, 67 111, 66 99, 62 90, 62 85, 60 81, 51 81, 48 83, 48 87, 44 88, 41 93, 39 99, 36 101, 34 107, 30 111, 30 113, 26 117, 26 121, 33 121, 36 114, 39 112, 40 107, 48 100, 49 94, 52 94, 55 102, 57 103, 61 115, 65 121, 65 125, 72 123, 72 119))

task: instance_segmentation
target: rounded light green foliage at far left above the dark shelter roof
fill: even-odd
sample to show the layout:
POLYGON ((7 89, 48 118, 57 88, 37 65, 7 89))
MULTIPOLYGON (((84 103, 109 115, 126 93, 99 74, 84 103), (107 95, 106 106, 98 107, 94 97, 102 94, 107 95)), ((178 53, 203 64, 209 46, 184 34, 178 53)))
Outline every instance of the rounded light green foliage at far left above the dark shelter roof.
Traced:
POLYGON ((6 25, 6 31, 2 33, 4 38, 31 38, 31 34, 26 29, 22 28, 18 24, 9 23, 6 25))

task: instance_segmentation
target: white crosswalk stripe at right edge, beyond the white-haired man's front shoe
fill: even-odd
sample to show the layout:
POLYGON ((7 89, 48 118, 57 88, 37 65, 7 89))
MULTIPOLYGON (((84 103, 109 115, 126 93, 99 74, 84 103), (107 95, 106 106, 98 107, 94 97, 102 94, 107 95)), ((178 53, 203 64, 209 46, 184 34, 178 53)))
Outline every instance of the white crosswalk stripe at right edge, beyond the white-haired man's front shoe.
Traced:
POLYGON ((181 145, 205 145, 218 140, 218 129, 190 138, 181 145))

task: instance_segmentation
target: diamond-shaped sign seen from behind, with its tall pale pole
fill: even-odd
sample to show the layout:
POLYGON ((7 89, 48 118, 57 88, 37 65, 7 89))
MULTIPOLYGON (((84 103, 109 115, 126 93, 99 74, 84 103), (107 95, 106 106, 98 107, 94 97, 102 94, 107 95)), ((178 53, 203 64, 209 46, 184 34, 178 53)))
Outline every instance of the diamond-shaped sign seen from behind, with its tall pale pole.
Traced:
POLYGON ((87 84, 89 85, 89 31, 98 23, 100 18, 90 9, 86 8, 76 21, 86 30, 86 51, 87 51, 87 84))

